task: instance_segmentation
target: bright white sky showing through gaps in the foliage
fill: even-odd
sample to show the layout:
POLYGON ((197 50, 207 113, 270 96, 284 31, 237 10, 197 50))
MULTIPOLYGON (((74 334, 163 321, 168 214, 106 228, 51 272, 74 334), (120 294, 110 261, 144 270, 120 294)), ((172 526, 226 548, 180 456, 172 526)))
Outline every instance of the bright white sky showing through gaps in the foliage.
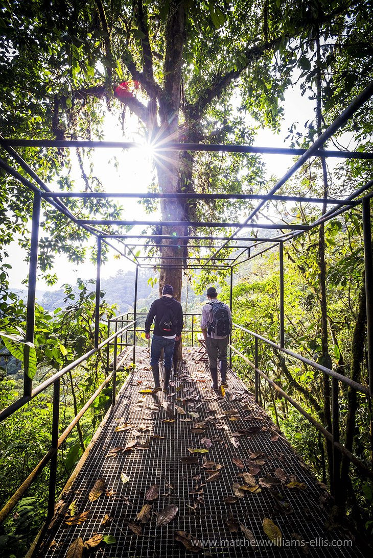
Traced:
MULTIPOLYGON (((302 98, 299 89, 289 90, 286 93, 284 103, 285 118, 281 124, 281 131, 275 134, 269 129, 259 129, 254 142, 255 146, 265 147, 289 147, 290 140, 285 141, 288 136, 288 128, 291 123, 299 122, 303 124, 307 119, 314 117, 313 107, 307 99, 302 98)), ((300 131, 300 129, 299 129, 300 131)), ((108 115, 107 123, 104 128, 104 140, 106 141, 136 141, 141 142, 141 136, 137 132, 137 119, 127 112, 125 121, 125 138, 121 125, 114 119, 112 115, 108 115)), ((262 160, 266 164, 267 178, 275 175, 278 178, 283 176, 291 165, 293 160, 290 156, 280 155, 262 155, 262 160)), ((94 174, 102 180, 106 191, 136 191, 146 192, 152 176, 151 153, 144 148, 143 150, 131 149, 123 150, 107 150, 97 149, 94 152, 94 174), (119 161, 119 171, 114 167, 113 156, 117 156, 119 161)), ((71 179, 75 180, 75 191, 84 190, 84 182, 77 165, 73 165, 71 179)), ((50 185, 51 190, 58 190, 58 187, 50 185)), ((138 204, 138 200, 122 199, 119 200, 125 208, 123 218, 144 219, 149 218, 143 213, 143 209, 138 204)), ((156 220, 156 214, 151 219, 156 220)), ((141 227, 142 228, 142 227, 141 227)), ((12 288, 25 288, 22 286, 22 280, 27 277, 28 264, 23 261, 24 253, 18 248, 17 242, 13 242, 9 246, 9 254, 11 258, 9 263, 13 266, 9 270, 9 282, 12 288)), ((102 267, 101 276, 103 278, 116 275, 118 270, 128 270, 131 268, 131 262, 125 258, 114 258, 113 250, 109 253, 109 260, 102 267)), ((58 256, 55 259, 54 273, 59 277, 54 287, 48 287, 41 276, 38 278, 37 288, 41 290, 55 290, 64 283, 75 284, 76 279, 90 279, 96 275, 95 266, 89 261, 76 266, 68 261, 65 256, 58 256)))

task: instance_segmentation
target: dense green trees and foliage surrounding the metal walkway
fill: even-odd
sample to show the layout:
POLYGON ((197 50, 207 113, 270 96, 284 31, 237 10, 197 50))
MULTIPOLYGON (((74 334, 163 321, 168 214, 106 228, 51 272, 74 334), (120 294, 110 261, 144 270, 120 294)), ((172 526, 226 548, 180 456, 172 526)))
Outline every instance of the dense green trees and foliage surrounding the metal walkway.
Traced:
MULTIPOLYGON (((134 113, 149 142, 184 141, 251 144, 259 126, 278 130, 286 89, 298 83, 312 103, 314 118, 293 123, 291 146, 308 147, 348 103, 369 83, 373 68, 371 2, 363 0, 0 0, 0 126, 4 137, 43 139, 102 139, 108 114, 124 123, 134 113), (122 84, 122 89, 118 85, 122 84), (124 92, 124 93, 123 93, 124 92)), ((372 149, 370 99, 327 147, 372 149), (345 136, 343 136, 345 134, 345 136), (333 145, 334 144, 334 145, 333 145)), ((124 124, 123 124, 123 127, 124 124)), ((111 139, 111 138, 108 138, 111 139)), ((128 140, 123 132, 123 139, 128 140)), ((20 155, 52 188, 75 190, 71 165, 76 157, 85 191, 104 191, 90 150, 67 153, 56 148, 21 148, 20 155)), ((11 163, 11 157, 2 150, 11 163)), ((16 163, 16 169, 21 171, 16 163)), ((23 171, 22 171, 23 172, 23 171)), ((184 152, 158 157, 151 191, 187 193, 262 193, 275 184, 265 180, 265 166, 257 156, 237 153, 184 152)), ((327 165, 309 161, 283 193, 342 198, 371 179, 371 162, 351 160, 327 165)), ((372 191, 371 187, 367 190, 372 191)), ((82 219, 128 217, 125 207, 103 199, 65 200, 82 219)), ((124 205, 124 204, 123 204, 124 205)), ((149 213, 157 204, 146 203, 149 213)), ((160 204, 167 220, 231 220, 247 217, 252 203, 175 201, 160 204)), ((0 407, 22 393, 26 307, 11 290, 6 261, 12 240, 26 253, 32 192, 11 175, 0 175, 0 407), (5 356, 4 356, 5 355, 5 356)), ((326 208, 313 205, 267 203, 261 208, 275 223, 309 223, 326 208)), ((130 217, 133 217, 132 215, 130 217)), ((57 277, 53 262, 59 254, 71 263, 90 258, 95 247, 87 230, 42 202, 39 269, 51 286, 57 277)), ((105 232, 114 230, 101 227, 105 232)), ((125 232, 128 227, 116 228, 125 232)), ((199 228, 201 235, 227 229, 199 228)), ((194 228, 168 227, 157 233, 194 234, 194 228)), ((254 230, 253 235, 257 232, 254 230)), ((170 254, 199 257, 211 253, 199 243, 178 242, 150 249, 167 263, 170 254)), ((214 240, 207 240, 208 245, 214 240)), ((285 244, 285 343, 308 358, 332 367, 367 385, 366 316, 361 212, 352 209, 331 223, 293 238, 285 244)), ((108 257, 103 244, 102 257, 108 257)), ((222 261, 230 249, 224 249, 222 261)), ((233 254, 236 255, 236 254, 233 254)), ((237 323, 270 339, 279 335, 278 254, 266 253, 243 264, 235 276, 233 314, 237 323)), ((157 285, 172 282, 188 310, 198 310, 206 285, 219 283, 228 300, 226 270, 203 271, 183 278, 165 265, 158 283, 141 276, 138 310, 146 310, 157 285), (152 288, 150 288, 152 286, 152 288), (194 287, 194 289, 192 288, 194 287), (187 294, 188 293, 188 294, 187 294)), ((155 275, 155 273, 152 273, 155 275)), ((157 277, 158 279, 158 277, 157 277)), ((101 317, 108 318, 117 304, 132 304, 133 273, 127 272, 102 288, 101 317), (106 302, 104 301, 106 300, 106 302)), ((64 364, 84 354, 93 344, 93 285, 66 286, 37 305, 30 371, 40 382, 64 364)), ((106 328, 102 325, 100 337, 106 328)), ((234 341, 252 360, 252 340, 235 331, 234 341)), ((237 360, 235 360, 236 365, 237 360)), ((240 364, 240 371, 242 364, 240 364)), ((260 368, 317 420, 332 430, 330 381, 321 374, 260 347, 260 368)), ((241 372, 240 372, 241 373, 241 372)), ((61 429, 94 392, 105 376, 99 354, 63 379, 61 429)), ((251 372, 252 378, 252 372, 251 372)), ((292 408, 273 399, 262 386, 262 403, 274 413, 319 478, 328 482, 331 447, 320 439, 292 408)), ((92 410, 73 431, 59 457, 59 488, 109 405, 110 391, 102 392, 92 410)), ((371 467, 371 407, 366 398, 341 389, 341 438, 371 467)), ((45 453, 50 441, 51 392, 29 403, 0 426, 0 499, 6 501, 45 453)), ((338 504, 362 536, 372 539, 372 487, 364 475, 342 461, 338 504)), ((0 553, 20 556, 44 516, 46 477, 41 475, 0 532, 0 553)))

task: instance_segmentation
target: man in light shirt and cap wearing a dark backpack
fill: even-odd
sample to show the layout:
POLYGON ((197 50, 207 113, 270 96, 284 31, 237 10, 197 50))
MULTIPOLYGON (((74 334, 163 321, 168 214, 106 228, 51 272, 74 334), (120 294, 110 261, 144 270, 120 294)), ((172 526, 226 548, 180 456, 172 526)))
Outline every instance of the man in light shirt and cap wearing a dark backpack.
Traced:
POLYGON ((232 314, 229 306, 217 300, 215 287, 207 289, 208 302, 202 309, 201 329, 206 342, 206 350, 209 359, 209 367, 212 377, 212 389, 217 391, 219 360, 221 385, 227 386, 227 352, 229 335, 232 329, 232 314))

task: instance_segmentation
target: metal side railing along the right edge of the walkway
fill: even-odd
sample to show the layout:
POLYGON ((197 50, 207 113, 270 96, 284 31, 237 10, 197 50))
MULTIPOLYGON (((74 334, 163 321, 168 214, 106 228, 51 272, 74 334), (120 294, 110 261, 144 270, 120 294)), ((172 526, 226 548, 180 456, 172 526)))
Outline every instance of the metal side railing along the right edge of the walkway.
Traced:
MULTIPOLYGON (((323 436, 329 441, 331 442, 332 446, 333 446, 333 454, 332 454, 332 464, 333 464, 333 470, 331 473, 331 478, 332 478, 332 482, 331 482, 331 492, 334 496, 337 495, 338 493, 338 489, 339 489, 339 464, 340 464, 340 454, 342 454, 345 458, 347 458, 348 460, 351 461, 351 463, 353 463, 354 465, 356 465, 362 473, 364 473, 366 475, 366 477, 369 477, 371 480, 373 480, 373 471, 371 469, 369 469, 369 467, 366 466, 366 464, 361 461, 360 459, 358 459, 355 455, 353 455, 351 453, 351 451, 349 451, 343 444, 341 444, 341 441, 339 439, 339 384, 338 382, 341 382, 343 384, 345 384, 346 386, 355 389, 358 392, 363 393, 364 395, 367 396, 368 400, 370 398, 370 390, 369 388, 367 388, 366 386, 363 386, 360 383, 357 383, 355 381, 353 381, 350 378, 347 378, 346 376, 342 376, 342 374, 338 374, 338 372, 335 372, 334 370, 332 370, 331 368, 327 368, 321 364, 318 364, 317 362, 314 362, 313 360, 310 360, 308 358, 303 357, 300 354, 297 354, 289 349, 285 349, 284 347, 281 347, 281 345, 278 345, 276 343, 274 343, 273 341, 265 338, 262 335, 259 335, 257 333, 254 333, 254 331, 250 331, 249 329, 243 328, 243 326, 238 325, 238 324, 233 324, 236 328, 240 329, 241 331, 245 331, 245 333, 247 333, 248 335, 251 335, 254 337, 255 339, 255 350, 254 350, 254 360, 255 362, 251 362, 250 359, 248 359, 246 357, 245 354, 243 354, 242 352, 240 352, 239 350, 237 350, 235 347, 233 347, 233 345, 229 345, 229 347, 231 348, 231 351, 233 353, 238 354, 248 365, 250 365, 251 368, 254 369, 255 371, 255 401, 257 403, 260 403, 261 401, 261 396, 260 396, 260 378, 264 378, 264 380, 270 384, 271 387, 273 387, 280 395, 281 397, 284 397, 286 399, 286 401, 288 401, 291 405, 293 405, 293 407, 295 407, 304 417, 305 419, 307 419, 319 432, 321 432, 323 434, 323 436), (329 430, 327 430, 322 424, 320 424, 317 420, 314 419, 313 416, 311 416, 307 411, 304 410, 304 408, 299 405, 299 403, 297 401, 294 401, 293 398, 291 398, 288 393, 286 393, 280 386, 278 386, 278 384, 276 384, 274 381, 272 381, 267 374, 265 374, 264 372, 262 372, 259 368, 259 341, 262 341, 263 343, 269 345, 269 347, 289 355, 291 358, 294 358, 296 360, 299 360, 300 362, 307 364, 308 366, 314 368, 315 370, 318 370, 320 372, 322 372, 323 374, 326 374, 327 376, 332 378, 333 381, 333 387, 332 387, 332 417, 333 417, 333 421, 332 421, 332 432, 329 432, 329 430)), ((281 343, 282 344, 282 343, 281 343)))

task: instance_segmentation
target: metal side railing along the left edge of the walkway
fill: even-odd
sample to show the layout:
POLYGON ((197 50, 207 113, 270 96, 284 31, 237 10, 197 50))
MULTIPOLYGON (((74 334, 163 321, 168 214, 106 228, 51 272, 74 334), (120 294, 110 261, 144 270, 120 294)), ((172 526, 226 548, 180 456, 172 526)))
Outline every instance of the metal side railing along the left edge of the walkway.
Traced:
MULTIPOLYGON (((109 335, 107 339, 99 343, 97 347, 90 349, 87 353, 79 357, 78 359, 74 360, 64 368, 62 368, 59 372, 56 372, 48 378, 45 382, 42 382, 37 386, 35 389, 31 390, 30 395, 20 397, 17 401, 13 402, 11 405, 6 407, 3 411, 0 412, 0 422, 7 419, 13 413, 15 413, 18 409, 26 405, 29 401, 34 399, 40 393, 46 391, 47 388, 53 386, 53 403, 52 403, 52 427, 51 427, 51 445, 49 451, 44 455, 44 457, 39 461, 36 465, 34 470, 28 475, 26 480, 23 481, 21 486, 16 490, 13 496, 9 499, 3 509, 0 511, 0 523, 4 521, 4 519, 8 516, 8 514, 12 511, 12 509, 16 506, 17 502, 20 501, 22 496, 26 493, 27 489, 30 485, 34 482, 37 476, 41 473, 41 471, 45 468, 45 466, 50 462, 50 477, 49 477, 49 490, 48 490, 48 504, 47 504, 47 519, 50 519, 54 514, 54 507, 55 507, 55 499, 56 499, 56 477, 57 477, 57 459, 58 459, 58 450, 60 446, 64 443, 70 432, 74 429, 74 427, 78 424, 79 420, 82 418, 84 413, 89 409, 92 405, 94 400, 97 398, 99 393, 102 392, 103 388, 108 385, 108 383, 112 380, 112 405, 114 405, 116 401, 116 375, 117 375, 117 339, 119 335, 122 335, 124 331, 128 328, 131 328, 132 325, 135 325, 135 321, 130 322, 129 324, 123 326, 121 329, 115 331, 112 335, 109 335), (107 347, 107 354, 109 353, 109 346, 114 341, 114 363, 113 369, 111 373, 104 379, 101 385, 97 388, 97 390, 93 393, 90 399, 85 403, 82 409, 78 412, 78 414, 74 417, 73 421, 70 422, 69 426, 66 427, 64 432, 59 436, 59 415, 60 415, 60 378, 63 377, 65 374, 82 364, 93 354, 99 352, 104 347, 107 347)), ((130 347, 132 350, 132 347, 130 347)), ((127 353, 129 353, 128 351, 127 353)), ((127 356, 127 355, 126 355, 127 356)), ((122 357, 125 358, 125 357, 122 357)))

